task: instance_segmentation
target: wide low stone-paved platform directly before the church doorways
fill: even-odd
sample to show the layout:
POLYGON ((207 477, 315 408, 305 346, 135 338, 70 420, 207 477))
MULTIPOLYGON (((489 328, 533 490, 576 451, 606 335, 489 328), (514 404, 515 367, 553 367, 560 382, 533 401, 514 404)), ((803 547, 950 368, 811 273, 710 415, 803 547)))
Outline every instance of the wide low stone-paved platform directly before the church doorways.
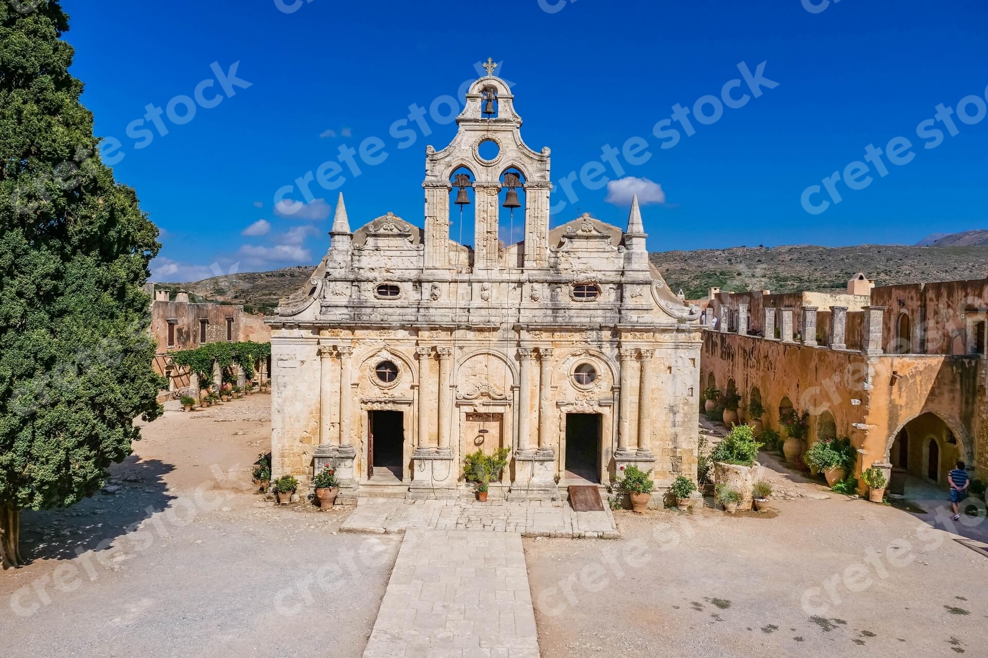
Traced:
POLYGON ((394 500, 361 498, 340 527, 345 533, 403 533, 408 530, 478 530, 523 537, 617 539, 614 515, 574 512, 560 501, 394 500))

